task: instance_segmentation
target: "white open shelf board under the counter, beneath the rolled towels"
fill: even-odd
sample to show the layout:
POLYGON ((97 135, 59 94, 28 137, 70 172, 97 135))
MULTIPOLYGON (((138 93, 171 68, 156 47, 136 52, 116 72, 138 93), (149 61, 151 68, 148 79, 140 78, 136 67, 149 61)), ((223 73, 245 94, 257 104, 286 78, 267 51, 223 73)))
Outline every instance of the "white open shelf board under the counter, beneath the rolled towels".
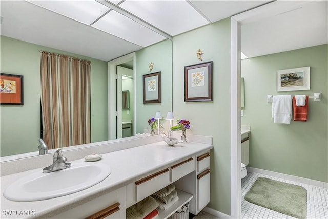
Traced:
POLYGON ((194 197, 192 194, 181 191, 179 189, 176 189, 176 191, 178 193, 177 196, 179 197, 179 200, 166 210, 158 210, 157 218, 170 217, 172 214, 174 214, 177 210, 179 210, 183 205, 185 205, 194 197))

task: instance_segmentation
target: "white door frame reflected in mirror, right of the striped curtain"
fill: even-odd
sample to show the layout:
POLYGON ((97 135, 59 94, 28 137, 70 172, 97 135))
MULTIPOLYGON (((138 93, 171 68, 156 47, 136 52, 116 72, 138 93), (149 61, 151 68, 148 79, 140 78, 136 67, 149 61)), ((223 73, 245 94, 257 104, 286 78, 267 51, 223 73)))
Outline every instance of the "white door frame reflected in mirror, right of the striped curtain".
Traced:
MULTIPOLYGON (((136 77, 135 52, 108 62, 108 140, 116 139, 116 66, 133 61, 133 78, 136 77), (113 128, 114 127, 114 128, 113 128)), ((136 129, 136 80, 133 80, 133 130, 136 129)), ((121 113, 121 112, 120 112, 121 113)))

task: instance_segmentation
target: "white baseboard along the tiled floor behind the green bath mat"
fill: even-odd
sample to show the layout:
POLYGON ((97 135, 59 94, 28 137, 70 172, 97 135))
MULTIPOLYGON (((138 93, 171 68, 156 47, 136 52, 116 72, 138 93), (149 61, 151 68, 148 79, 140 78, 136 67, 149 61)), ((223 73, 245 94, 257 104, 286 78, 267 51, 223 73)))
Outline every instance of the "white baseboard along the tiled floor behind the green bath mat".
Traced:
POLYGON ((254 167, 247 167, 248 172, 253 172, 253 173, 259 173, 259 174, 264 174, 264 175, 269 175, 277 178, 282 178, 283 180, 289 180, 289 181, 294 181, 297 183, 303 183, 303 184, 308 184, 311 186, 317 186, 321 187, 324 189, 328 189, 328 183, 322 182, 322 181, 317 181, 317 180, 311 180, 311 178, 303 178, 299 176, 294 176, 294 175, 288 175, 284 173, 278 173, 278 172, 273 172, 269 170, 262 170, 254 167))

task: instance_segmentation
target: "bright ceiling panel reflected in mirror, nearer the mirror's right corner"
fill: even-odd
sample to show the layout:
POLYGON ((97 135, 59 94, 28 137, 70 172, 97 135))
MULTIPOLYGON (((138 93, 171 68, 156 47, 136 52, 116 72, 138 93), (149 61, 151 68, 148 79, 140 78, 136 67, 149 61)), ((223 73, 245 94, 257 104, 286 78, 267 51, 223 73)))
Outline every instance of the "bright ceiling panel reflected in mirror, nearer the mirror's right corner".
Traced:
POLYGON ((116 11, 109 12, 92 26, 142 47, 166 39, 116 11))

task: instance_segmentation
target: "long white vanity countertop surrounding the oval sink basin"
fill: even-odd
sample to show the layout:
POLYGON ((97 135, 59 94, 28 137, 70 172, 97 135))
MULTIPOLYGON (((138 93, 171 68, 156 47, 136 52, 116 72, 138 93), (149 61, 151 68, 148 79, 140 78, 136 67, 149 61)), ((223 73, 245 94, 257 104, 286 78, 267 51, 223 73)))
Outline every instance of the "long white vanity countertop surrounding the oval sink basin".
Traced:
MULTIPOLYGON (((128 185, 141 177, 145 177, 150 172, 155 172, 169 166, 174 162, 183 160, 212 149, 213 146, 201 143, 179 143, 176 146, 168 146, 165 142, 160 141, 148 145, 133 147, 125 150, 114 151, 103 154, 101 160, 96 161, 110 166, 111 174, 102 182, 73 194, 51 198, 49 200, 35 202, 14 202, 7 200, 3 193, 5 189, 14 181, 35 171, 42 171, 43 168, 33 169, 25 172, 15 173, 2 176, 1 180, 1 216, 2 218, 23 218, 24 216, 4 216, 3 211, 29 211, 35 216, 26 216, 26 218, 46 218, 56 215, 57 213, 69 210, 77 205, 89 201, 104 194, 128 185)), ((63 153, 65 156, 65 154, 63 153)), ((86 162, 84 159, 68 161, 74 163, 86 162)), ((49 161, 49 165, 52 160, 49 161)), ((63 179, 65 180, 65 179, 63 179)), ((47 185, 40 185, 47 186, 47 185)))

